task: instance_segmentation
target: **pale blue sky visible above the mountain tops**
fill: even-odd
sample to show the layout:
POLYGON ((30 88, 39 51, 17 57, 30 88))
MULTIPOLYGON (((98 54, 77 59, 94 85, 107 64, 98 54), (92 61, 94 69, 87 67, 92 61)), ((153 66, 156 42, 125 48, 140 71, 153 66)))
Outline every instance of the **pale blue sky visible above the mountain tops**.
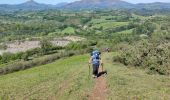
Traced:
MULTIPOLYGON (((0 0, 0 4, 19 4, 28 0, 0 0)), ((73 2, 77 0, 35 0, 39 3, 57 4, 60 2, 73 2)), ((149 3, 149 2, 170 2, 170 0, 124 0, 131 3, 149 3)))

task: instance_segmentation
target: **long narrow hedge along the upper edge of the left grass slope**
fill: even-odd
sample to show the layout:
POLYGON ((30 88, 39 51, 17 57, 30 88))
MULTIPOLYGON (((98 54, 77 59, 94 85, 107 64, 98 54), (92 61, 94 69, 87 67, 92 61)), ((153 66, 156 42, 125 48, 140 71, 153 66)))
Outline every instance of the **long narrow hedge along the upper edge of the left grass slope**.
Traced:
POLYGON ((45 64, 51 63, 63 57, 71 57, 73 55, 78 55, 82 53, 84 53, 84 51, 67 51, 67 52, 61 52, 58 54, 48 55, 42 58, 30 60, 30 61, 16 62, 10 65, 7 65, 3 68, 0 68, 0 74, 8 74, 8 73, 32 68, 35 66, 45 65, 45 64))

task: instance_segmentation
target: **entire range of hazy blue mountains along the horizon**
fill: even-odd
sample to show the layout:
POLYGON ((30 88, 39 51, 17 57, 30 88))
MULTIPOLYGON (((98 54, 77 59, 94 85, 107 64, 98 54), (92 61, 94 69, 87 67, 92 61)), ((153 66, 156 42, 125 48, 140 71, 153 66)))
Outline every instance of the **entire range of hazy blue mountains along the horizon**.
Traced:
POLYGON ((140 3, 131 4, 122 0, 81 0, 72 3, 59 3, 57 5, 41 4, 34 0, 29 0, 22 4, 8 5, 1 4, 0 11, 15 10, 45 10, 45 9, 169 9, 170 3, 140 3))

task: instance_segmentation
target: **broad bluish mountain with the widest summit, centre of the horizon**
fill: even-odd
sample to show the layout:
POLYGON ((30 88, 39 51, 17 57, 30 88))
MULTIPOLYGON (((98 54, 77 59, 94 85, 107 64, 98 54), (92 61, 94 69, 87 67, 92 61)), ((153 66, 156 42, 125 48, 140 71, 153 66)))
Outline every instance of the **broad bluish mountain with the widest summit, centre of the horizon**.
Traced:
POLYGON ((105 8, 133 8, 134 4, 122 0, 81 0, 70 3, 66 9, 105 9, 105 8))

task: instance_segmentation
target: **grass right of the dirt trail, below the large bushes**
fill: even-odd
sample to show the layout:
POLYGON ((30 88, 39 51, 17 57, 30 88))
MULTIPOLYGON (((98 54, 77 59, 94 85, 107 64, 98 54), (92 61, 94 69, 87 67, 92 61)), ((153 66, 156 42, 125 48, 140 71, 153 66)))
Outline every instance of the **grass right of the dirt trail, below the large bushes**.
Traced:
POLYGON ((112 62, 105 55, 109 100, 170 100, 170 77, 148 75, 142 69, 128 68, 112 62))

